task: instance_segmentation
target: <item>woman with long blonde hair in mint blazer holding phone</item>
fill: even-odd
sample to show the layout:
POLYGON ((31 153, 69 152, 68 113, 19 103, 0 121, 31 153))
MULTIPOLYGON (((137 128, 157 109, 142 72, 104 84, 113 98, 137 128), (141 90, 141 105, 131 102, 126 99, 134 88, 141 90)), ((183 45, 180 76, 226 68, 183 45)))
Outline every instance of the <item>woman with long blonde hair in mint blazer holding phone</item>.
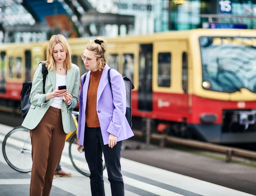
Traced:
POLYGON ((53 35, 47 48, 45 94, 42 64, 33 77, 31 107, 23 126, 30 129, 32 172, 30 196, 49 196, 66 134, 76 130, 71 112, 78 103, 79 68, 71 62, 71 50, 63 35, 53 35), (66 89, 58 90, 58 86, 66 89))

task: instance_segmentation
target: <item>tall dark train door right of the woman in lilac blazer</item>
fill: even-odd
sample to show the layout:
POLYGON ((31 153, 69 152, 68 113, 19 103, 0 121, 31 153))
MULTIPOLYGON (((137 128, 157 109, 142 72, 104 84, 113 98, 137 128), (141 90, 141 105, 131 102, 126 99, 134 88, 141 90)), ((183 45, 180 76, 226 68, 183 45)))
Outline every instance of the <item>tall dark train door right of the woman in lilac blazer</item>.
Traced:
POLYGON ((138 110, 152 111, 153 44, 140 45, 138 110))

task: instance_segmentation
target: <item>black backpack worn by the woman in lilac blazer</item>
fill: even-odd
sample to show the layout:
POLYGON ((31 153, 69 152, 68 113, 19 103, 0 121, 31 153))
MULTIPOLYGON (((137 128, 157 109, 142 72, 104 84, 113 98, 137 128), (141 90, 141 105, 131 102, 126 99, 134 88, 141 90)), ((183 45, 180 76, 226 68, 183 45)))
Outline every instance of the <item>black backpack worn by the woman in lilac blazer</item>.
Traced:
MULTIPOLYGON (((109 84, 110 84, 110 88, 112 90, 112 86, 111 86, 111 78, 110 78, 110 70, 108 70, 108 79, 109 79, 109 84)), ((83 83, 86 81, 86 76, 87 73, 84 74, 83 77, 83 83)), ((130 125, 130 127, 132 127, 132 90, 134 89, 134 85, 132 80, 130 80, 129 78, 127 78, 126 76, 123 76, 123 81, 125 84, 125 91, 126 91, 126 112, 125 112, 125 117, 130 125)), ((112 93, 113 95, 113 93, 112 93)))

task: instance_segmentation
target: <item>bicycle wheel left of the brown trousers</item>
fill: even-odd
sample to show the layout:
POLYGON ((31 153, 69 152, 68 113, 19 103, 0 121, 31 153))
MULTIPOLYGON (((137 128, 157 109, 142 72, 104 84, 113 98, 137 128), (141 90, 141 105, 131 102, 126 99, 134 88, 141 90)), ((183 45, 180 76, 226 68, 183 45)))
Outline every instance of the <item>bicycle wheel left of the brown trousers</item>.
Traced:
POLYGON ((13 128, 2 144, 7 164, 16 171, 27 173, 32 169, 31 140, 29 129, 18 126, 13 128))

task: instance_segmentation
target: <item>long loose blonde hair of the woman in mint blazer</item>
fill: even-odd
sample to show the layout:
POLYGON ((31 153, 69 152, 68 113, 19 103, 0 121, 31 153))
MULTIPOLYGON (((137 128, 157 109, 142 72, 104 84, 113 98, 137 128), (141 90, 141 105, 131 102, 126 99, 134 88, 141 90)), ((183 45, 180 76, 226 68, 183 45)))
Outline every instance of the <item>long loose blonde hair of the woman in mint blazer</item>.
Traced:
POLYGON ((54 60, 54 57, 53 57, 53 47, 59 43, 64 51, 66 52, 67 54, 67 57, 64 61, 64 67, 67 69, 67 70, 70 70, 71 67, 72 67, 72 60, 71 60, 71 49, 70 49, 70 46, 69 46, 69 43, 66 39, 65 36, 61 35, 61 34, 58 34, 58 35, 52 35, 51 38, 50 38, 50 41, 49 41, 49 45, 47 47, 47 51, 46 51, 46 68, 48 70, 51 70, 53 71, 54 69, 56 70, 57 69, 57 66, 56 66, 56 62, 54 60))

